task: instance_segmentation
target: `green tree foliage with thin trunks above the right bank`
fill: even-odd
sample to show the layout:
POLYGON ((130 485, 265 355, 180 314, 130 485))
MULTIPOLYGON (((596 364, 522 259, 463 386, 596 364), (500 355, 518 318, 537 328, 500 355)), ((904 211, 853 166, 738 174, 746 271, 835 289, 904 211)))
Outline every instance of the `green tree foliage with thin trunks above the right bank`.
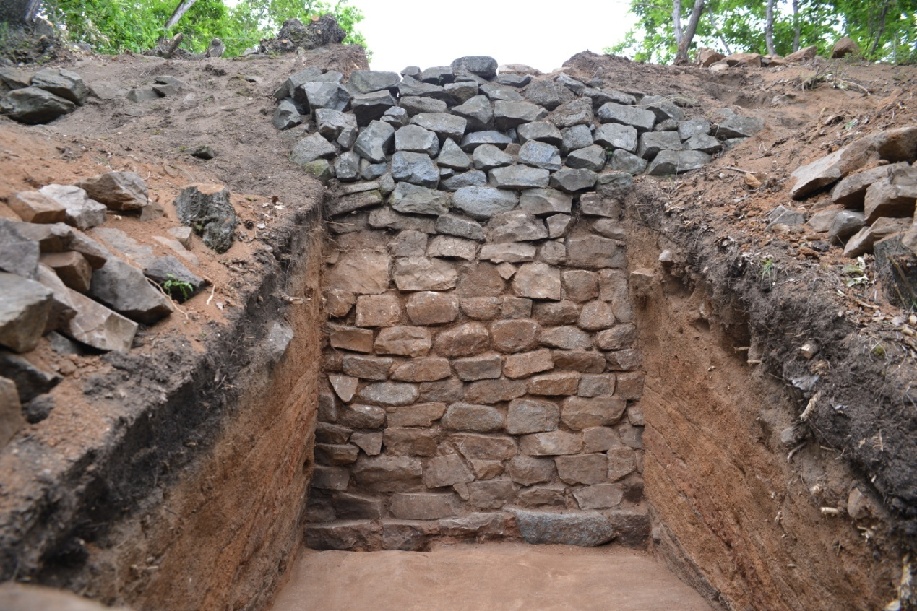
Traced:
MULTIPOLYGON (((683 4, 686 20, 691 3, 683 4)), ((708 0, 692 48, 766 53, 766 6, 766 0, 708 0)), ((670 62, 676 52, 672 0, 631 0, 630 10, 637 25, 605 52, 670 62)), ((825 54, 839 37, 849 36, 867 59, 917 61, 917 0, 778 0, 773 29, 780 55, 810 45, 825 54)))

